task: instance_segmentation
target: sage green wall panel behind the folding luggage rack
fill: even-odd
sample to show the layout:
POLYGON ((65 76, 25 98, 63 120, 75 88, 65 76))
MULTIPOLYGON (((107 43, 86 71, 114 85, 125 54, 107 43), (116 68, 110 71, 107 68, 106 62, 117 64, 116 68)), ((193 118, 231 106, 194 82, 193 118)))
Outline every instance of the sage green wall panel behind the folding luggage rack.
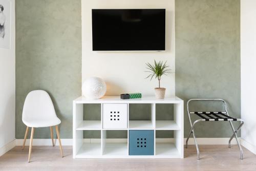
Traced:
MULTIPOLYGON (((240 1, 175 3, 176 95, 184 102, 223 98, 230 114, 240 117, 240 1)), ((189 122, 184 110, 187 136, 189 122)), ((227 122, 198 123, 195 132, 197 137, 229 137, 232 133, 227 122)))

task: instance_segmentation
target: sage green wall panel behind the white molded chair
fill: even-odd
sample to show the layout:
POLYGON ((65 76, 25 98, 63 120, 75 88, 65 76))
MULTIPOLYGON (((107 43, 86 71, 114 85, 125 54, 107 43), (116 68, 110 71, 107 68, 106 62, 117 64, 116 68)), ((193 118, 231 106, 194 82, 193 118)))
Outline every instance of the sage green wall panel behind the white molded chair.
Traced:
MULTIPOLYGON (((72 138, 72 100, 81 94, 80 0, 16 0, 16 138, 24 138, 22 109, 32 90, 46 90, 72 138)), ((50 138, 49 127, 35 138, 50 138)))

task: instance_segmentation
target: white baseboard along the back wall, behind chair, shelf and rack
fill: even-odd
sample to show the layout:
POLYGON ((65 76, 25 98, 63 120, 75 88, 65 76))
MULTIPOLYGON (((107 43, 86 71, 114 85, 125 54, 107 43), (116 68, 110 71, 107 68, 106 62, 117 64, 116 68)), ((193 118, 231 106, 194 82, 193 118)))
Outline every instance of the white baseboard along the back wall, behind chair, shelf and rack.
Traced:
MULTIPOLYGON (((228 144, 229 138, 197 138, 197 142, 199 145, 227 145, 228 144)), ((26 146, 29 145, 30 139, 27 139, 26 141, 26 146)), ((95 139, 83 139, 84 143, 100 143, 99 138, 95 139)), ((106 139, 107 143, 126 143, 127 139, 126 138, 113 138, 113 139, 106 139)), ((156 139, 157 143, 171 143, 175 142, 174 138, 157 138, 156 139)), ((184 144, 186 142, 186 138, 184 138, 184 144)), ((58 140, 54 140, 55 145, 59 145, 58 140)), ((236 139, 233 139, 231 141, 231 144, 236 144, 236 139)), ((72 145, 73 144, 73 139, 61 139, 61 144, 62 145, 72 145)), ((195 144, 193 138, 189 138, 188 140, 189 145, 195 144)), ((16 139, 16 145, 20 146, 23 145, 23 139, 16 139)), ((52 145, 52 140, 51 139, 33 139, 33 145, 35 146, 44 146, 44 145, 52 145)))

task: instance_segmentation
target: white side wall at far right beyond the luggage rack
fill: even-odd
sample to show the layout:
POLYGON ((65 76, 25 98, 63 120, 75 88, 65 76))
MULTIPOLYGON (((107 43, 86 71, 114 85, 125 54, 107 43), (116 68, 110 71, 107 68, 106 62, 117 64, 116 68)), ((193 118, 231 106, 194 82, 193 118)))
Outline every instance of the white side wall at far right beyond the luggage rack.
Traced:
POLYGON ((241 1, 242 143, 256 154, 256 1, 241 1))

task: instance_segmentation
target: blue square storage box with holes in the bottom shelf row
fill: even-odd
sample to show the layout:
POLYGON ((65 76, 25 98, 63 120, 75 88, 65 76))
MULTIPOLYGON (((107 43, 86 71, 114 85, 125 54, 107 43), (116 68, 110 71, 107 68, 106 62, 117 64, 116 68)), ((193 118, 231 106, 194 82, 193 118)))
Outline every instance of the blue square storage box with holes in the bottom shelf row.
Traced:
POLYGON ((154 155, 154 131, 130 130, 129 155, 154 155))

